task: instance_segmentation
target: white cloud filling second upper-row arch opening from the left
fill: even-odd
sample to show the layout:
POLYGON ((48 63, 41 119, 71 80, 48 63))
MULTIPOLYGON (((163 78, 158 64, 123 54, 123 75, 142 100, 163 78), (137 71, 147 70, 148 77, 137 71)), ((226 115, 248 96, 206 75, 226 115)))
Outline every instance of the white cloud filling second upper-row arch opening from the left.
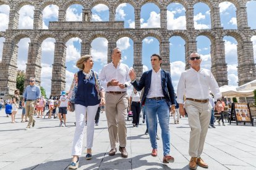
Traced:
POLYGON ((19 29, 33 29, 35 7, 26 5, 20 8, 19 29))

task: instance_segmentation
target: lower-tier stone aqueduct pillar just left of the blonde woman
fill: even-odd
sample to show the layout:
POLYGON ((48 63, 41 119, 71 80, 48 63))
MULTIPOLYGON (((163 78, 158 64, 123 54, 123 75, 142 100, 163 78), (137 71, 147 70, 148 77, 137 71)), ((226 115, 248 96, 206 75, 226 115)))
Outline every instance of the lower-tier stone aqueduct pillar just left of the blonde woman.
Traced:
POLYGON ((55 42, 51 95, 59 95, 66 86, 66 45, 55 42))

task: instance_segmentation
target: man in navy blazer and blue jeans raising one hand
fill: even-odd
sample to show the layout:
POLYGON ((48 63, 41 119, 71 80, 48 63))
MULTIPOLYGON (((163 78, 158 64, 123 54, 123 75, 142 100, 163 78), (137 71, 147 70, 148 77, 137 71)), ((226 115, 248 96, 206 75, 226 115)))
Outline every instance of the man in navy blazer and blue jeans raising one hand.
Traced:
POLYGON ((173 163, 174 158, 169 155, 170 152, 170 132, 169 132, 169 111, 175 111, 175 94, 171 76, 168 71, 161 69, 162 59, 160 55, 151 55, 152 70, 145 71, 140 78, 139 83, 136 81, 136 75, 133 69, 130 70, 129 76, 131 84, 137 91, 144 87, 142 105, 145 105, 146 116, 148 119, 148 134, 150 135, 151 155, 157 156, 156 143, 156 115, 160 123, 163 139, 163 163, 173 163))

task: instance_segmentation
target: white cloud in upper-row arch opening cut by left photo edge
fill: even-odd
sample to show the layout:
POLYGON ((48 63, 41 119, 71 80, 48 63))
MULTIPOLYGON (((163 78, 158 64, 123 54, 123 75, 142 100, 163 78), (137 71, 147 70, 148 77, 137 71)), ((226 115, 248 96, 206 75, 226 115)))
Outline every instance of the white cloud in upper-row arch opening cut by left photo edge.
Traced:
POLYGON ((5 31, 8 29, 9 23, 9 12, 10 7, 7 5, 0 6, 0 31, 5 31))

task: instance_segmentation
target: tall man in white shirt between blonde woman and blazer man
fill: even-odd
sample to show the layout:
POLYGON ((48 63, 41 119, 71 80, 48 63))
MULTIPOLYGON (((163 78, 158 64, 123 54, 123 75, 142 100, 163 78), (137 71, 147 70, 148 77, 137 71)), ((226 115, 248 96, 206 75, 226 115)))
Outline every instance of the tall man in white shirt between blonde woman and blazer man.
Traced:
POLYGON ((111 150, 108 155, 116 154, 116 142, 119 141, 119 151, 124 158, 126 151, 126 115, 128 107, 127 86, 129 86, 129 67, 121 63, 122 55, 119 48, 114 48, 112 62, 103 67, 100 73, 101 84, 106 89, 106 118, 111 150), (117 135, 118 134, 118 135, 117 135))

